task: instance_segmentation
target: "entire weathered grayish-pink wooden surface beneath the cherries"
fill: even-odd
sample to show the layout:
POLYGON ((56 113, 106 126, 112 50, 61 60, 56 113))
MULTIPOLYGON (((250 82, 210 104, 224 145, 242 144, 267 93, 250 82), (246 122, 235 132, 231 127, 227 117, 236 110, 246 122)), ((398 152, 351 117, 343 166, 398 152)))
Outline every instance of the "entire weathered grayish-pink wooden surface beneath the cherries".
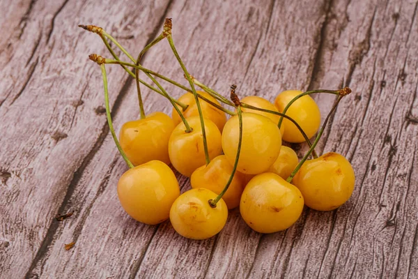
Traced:
MULTIPOLYGON (((418 278, 417 5, 0 1, 0 278, 418 278), (270 100, 285 89, 353 89, 318 146, 353 164, 345 205, 304 209, 276 234, 251 231, 234 210, 206 241, 127 216, 116 195, 127 167, 107 128, 100 68, 87 58, 109 54, 77 24, 103 27, 136 56, 165 17, 189 72, 224 95, 232 83, 270 100)), ((184 82, 167 42, 144 66, 184 82)), ((119 66, 107 69, 118 129, 138 115, 136 91, 119 66)), ((333 98, 315 98, 324 116, 333 98)), ((150 91, 145 104, 171 112, 150 91)))

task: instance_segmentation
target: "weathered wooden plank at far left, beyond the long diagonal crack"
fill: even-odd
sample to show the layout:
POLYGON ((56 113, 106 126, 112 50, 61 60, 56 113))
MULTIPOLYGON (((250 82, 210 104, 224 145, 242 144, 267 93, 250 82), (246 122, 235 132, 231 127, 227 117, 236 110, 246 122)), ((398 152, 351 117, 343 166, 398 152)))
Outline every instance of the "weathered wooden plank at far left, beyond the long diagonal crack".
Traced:
MULTIPOLYGON (((89 53, 104 52, 105 47, 98 36, 87 34, 77 24, 95 22, 119 36, 132 34, 132 39, 121 43, 136 49, 155 34, 133 28, 144 24, 160 28, 168 3, 107 1, 98 6, 95 1, 33 1, 31 8, 25 7, 30 10, 26 27, 20 38, 10 40, 12 59, 2 60, 0 81, 0 161, 2 177, 7 178, 0 188, 2 278, 40 276, 62 229, 54 220, 56 213, 75 209, 76 220, 83 223, 88 202, 104 190, 107 172, 118 163, 114 162, 116 150, 109 146, 107 153, 113 157, 101 161, 102 171, 86 170, 109 132, 104 114, 97 110, 103 105, 100 70, 88 61, 89 53), (112 6, 115 11, 109 21, 112 6), (29 52, 34 44, 38 47, 29 52), (95 180, 86 181, 85 172, 95 180), (88 191, 71 199, 80 188, 88 191)), ((109 75, 116 114, 129 83, 124 86, 127 76, 118 68, 109 68, 109 75)), ((122 111, 137 113, 123 107, 122 111)), ((61 249, 72 239, 56 247, 61 249)))

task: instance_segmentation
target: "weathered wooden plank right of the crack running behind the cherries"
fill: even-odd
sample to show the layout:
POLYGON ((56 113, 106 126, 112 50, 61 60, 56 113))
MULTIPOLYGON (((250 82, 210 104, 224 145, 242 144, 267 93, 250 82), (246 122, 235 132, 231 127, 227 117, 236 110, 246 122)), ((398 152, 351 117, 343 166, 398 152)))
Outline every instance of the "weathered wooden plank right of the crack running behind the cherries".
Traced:
MULTIPOLYGON (((284 234, 262 236, 250 277, 417 276, 418 130, 408 120, 417 95, 417 3, 385 4, 331 3, 309 86, 353 89, 320 144, 350 158, 353 197, 337 211, 305 211, 284 234)), ((330 96, 316 99, 325 111, 332 105, 330 96)))

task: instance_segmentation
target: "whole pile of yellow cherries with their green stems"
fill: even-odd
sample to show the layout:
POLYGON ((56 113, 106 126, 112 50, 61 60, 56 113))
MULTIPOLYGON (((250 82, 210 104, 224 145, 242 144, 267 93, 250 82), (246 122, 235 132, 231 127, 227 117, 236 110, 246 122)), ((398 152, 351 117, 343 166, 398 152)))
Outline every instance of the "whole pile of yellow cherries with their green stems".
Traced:
POLYGON ((89 58, 102 70, 109 130, 130 167, 118 181, 118 198, 135 220, 156 225, 169 219, 178 234, 208 239, 222 230, 228 211, 239 206, 251 229, 272 233, 291 227, 300 218, 304 204, 331 211, 350 198, 355 174, 348 160, 338 153, 318 157, 314 149, 330 115, 350 89, 289 90, 279 93, 273 104, 258 96, 240 100, 232 85, 231 96, 226 98, 189 75, 173 43, 171 19, 166 19, 160 36, 137 59, 102 28, 80 27, 97 33, 113 56, 106 59, 91 54, 89 58), (144 53, 166 39, 189 86, 141 66, 144 53), (131 61, 121 61, 111 44, 131 61), (124 123, 119 137, 109 109, 107 64, 122 66, 137 83, 140 116, 124 123), (139 79, 139 73, 155 85, 139 79), (158 80, 184 89, 185 94, 177 100, 172 98, 158 80), (173 105, 171 117, 163 112, 144 113, 141 84, 169 100, 173 105), (196 91, 195 86, 202 91, 196 91), (336 96, 322 127, 318 105, 309 96, 312 93, 336 96), (311 143, 309 139, 315 135, 311 143), (307 142, 309 151, 299 160, 282 140, 307 142), (169 165, 190 178, 190 190, 180 195, 169 165))

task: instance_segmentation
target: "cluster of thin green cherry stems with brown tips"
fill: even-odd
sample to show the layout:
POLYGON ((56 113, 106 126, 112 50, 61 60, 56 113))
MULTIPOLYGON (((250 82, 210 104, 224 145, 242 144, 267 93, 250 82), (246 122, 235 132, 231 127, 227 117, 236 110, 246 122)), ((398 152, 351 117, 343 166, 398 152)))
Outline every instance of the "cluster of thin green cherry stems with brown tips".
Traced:
POLYGON ((209 86, 206 86, 202 82, 199 82, 199 80, 196 80, 195 77, 190 75, 189 72, 187 71, 187 68, 185 67, 185 64, 183 63, 182 59, 180 58, 180 55, 178 54, 178 52, 176 50, 176 46, 174 45, 173 38, 172 38, 172 35, 171 35, 171 29, 172 29, 171 19, 166 19, 165 20, 164 29, 163 29, 162 33, 160 34, 160 36, 157 36, 157 38, 155 38, 155 40, 153 40, 151 43, 146 45, 146 47, 144 47, 144 49, 141 50, 141 52, 139 52, 139 55, 137 56, 137 59, 134 59, 134 57, 129 52, 127 52, 127 50, 125 50, 125 48, 120 43, 118 43, 118 41, 114 37, 112 37, 109 33, 104 31, 104 29, 102 29, 100 27, 96 27, 94 25, 87 25, 87 26, 86 25, 79 25, 79 27, 82 27, 83 29, 86 29, 87 31, 97 33, 100 36, 100 38, 102 38, 102 40, 104 42, 104 45, 106 45, 107 50, 109 50, 111 56, 113 56, 113 59, 106 59, 106 58, 103 58, 102 56, 99 56, 97 54, 91 54, 89 56, 89 58, 91 60, 95 61, 96 63, 98 63, 100 65, 100 68, 102 69, 103 84, 104 84, 104 100, 105 100, 105 105, 106 105, 106 115, 107 115, 107 121, 109 123, 109 130, 111 131, 111 135, 114 138, 114 142, 115 142, 115 144, 118 148, 118 151, 121 153, 123 159, 125 160, 125 162, 127 163, 127 165, 129 167, 134 167, 134 166, 132 165, 130 160, 127 158, 123 149, 121 148, 121 144, 119 144, 119 142, 118 142, 118 138, 116 137, 116 133, 114 131, 114 127, 113 127, 113 124, 112 124, 112 121, 111 121, 111 114, 110 114, 110 109, 109 109, 109 93, 108 93, 108 89, 107 89, 107 75, 106 75, 105 64, 118 64, 130 76, 134 77, 134 79, 136 81, 136 85, 137 85, 137 95, 138 95, 138 102, 139 102, 139 117, 141 119, 146 118, 146 114, 145 114, 145 111, 144 111, 144 103, 143 103, 142 96, 141 96, 141 86, 140 86, 140 84, 143 84, 144 86, 148 87, 148 89, 151 89, 151 90, 159 93, 160 95, 164 96, 165 98, 167 98, 169 100, 169 102, 171 103, 171 105, 173 105, 174 109, 179 114, 181 120, 183 121, 183 123, 185 125, 185 129, 186 129, 185 133, 190 133, 193 130, 193 128, 189 126, 189 123, 187 123, 187 119, 185 119, 185 116, 183 116, 183 112, 185 112, 185 110, 187 110, 188 105, 186 105, 184 103, 181 103, 180 101, 171 97, 169 95, 169 93, 167 93, 166 89, 164 89, 164 87, 160 84, 160 82, 157 81, 156 78, 159 78, 161 80, 169 82, 170 84, 173 84, 174 86, 177 86, 178 88, 183 89, 184 91, 191 92, 194 96, 194 100, 196 102, 196 107, 199 111, 199 116, 200 116, 200 121, 201 121, 201 130, 202 130, 202 135, 203 135, 203 146, 204 146, 204 152, 205 152, 205 158, 206 158, 206 165, 208 165, 210 163, 210 158, 209 158, 209 153, 208 153, 208 143, 206 141, 205 123, 204 123, 203 113, 202 113, 202 110, 201 110, 201 104, 200 104, 199 99, 205 101, 206 103, 212 105, 213 107, 217 108, 218 110, 221 110, 222 112, 225 112, 226 114, 229 114, 231 116, 234 116, 234 115, 238 114, 239 126, 240 126, 239 127, 240 128, 240 135, 239 135, 237 156, 235 158, 235 163, 233 165, 233 172, 231 173, 231 177, 230 177, 229 181, 226 183, 226 186, 225 186, 224 190, 222 190, 222 193, 220 193, 215 199, 211 199, 209 201, 209 204, 212 207, 216 207, 217 202, 219 202, 219 199, 221 199, 222 196, 224 195, 224 193, 226 193, 226 190, 228 190, 229 185, 231 184, 231 182, 233 180, 233 176, 235 175, 235 171, 236 171, 236 168, 237 168, 237 165, 238 165, 238 160, 240 158, 240 149, 241 149, 241 143, 242 143, 242 108, 247 108, 247 109, 250 109, 250 110, 258 110, 260 112, 268 112, 270 114, 276 114, 276 115, 281 116, 280 119, 279 119, 279 123, 277 124, 278 128, 281 127, 281 123, 282 123, 283 119, 286 118, 289 121, 291 121, 293 124, 295 124, 297 129, 300 131, 300 133, 304 137, 304 140, 309 145, 309 151, 302 158, 300 163, 297 165, 295 170, 292 172, 291 176, 288 177, 287 181, 290 183, 293 179, 293 176, 295 176, 297 171, 300 169, 302 164, 307 160, 307 158, 309 158, 309 156, 312 156, 313 158, 318 158, 318 155, 315 151, 315 146, 316 146, 316 144, 318 144, 318 141, 320 140, 320 137, 323 135, 325 126, 327 124, 327 121, 330 119, 330 115, 334 112, 334 110, 336 110, 336 106, 338 105, 341 98, 343 98, 343 96, 346 96, 348 93, 351 92, 350 89, 348 89, 348 88, 340 89, 340 90, 336 90, 336 91, 326 90, 326 89, 306 91, 306 92, 300 93, 299 95, 295 96, 295 98, 293 98, 293 100, 291 100, 291 102, 289 102, 288 105, 286 105, 283 112, 275 112, 275 111, 272 111, 272 110, 265 110, 265 109, 262 109, 262 108, 259 108, 259 107, 254 107, 252 105, 241 103, 238 96, 235 93, 235 88, 236 88, 235 85, 231 86, 231 100, 229 100, 229 99, 225 98, 224 96, 222 96, 221 94, 217 93, 217 91, 215 91, 214 89, 211 89, 209 86), (167 38, 167 41, 168 41, 168 43, 171 47, 171 50, 172 50, 174 56, 176 56, 176 59, 177 59, 178 63, 180 64, 180 68, 182 68, 182 70, 183 70, 184 76, 189 83, 189 87, 184 86, 183 84, 180 84, 180 83, 178 83, 174 80, 171 80, 169 77, 165 77, 164 75, 161 75, 160 73, 156 73, 153 70, 150 70, 148 68, 145 68, 144 66, 141 66, 141 59, 144 56, 144 54, 148 50, 150 50, 151 47, 157 45, 157 43, 164 40, 165 38, 167 38), (116 47, 121 52, 123 52, 123 54, 125 54, 130 59, 130 61, 132 63, 126 62, 126 61, 121 61, 121 59, 119 59, 116 52, 112 49, 112 47, 109 43, 109 40, 111 41, 111 43, 114 43, 114 45, 116 45, 116 47), (132 72, 132 70, 130 68, 132 68, 132 70, 134 72, 132 72), (148 84, 147 82, 144 82, 144 80, 141 80, 139 78, 139 73, 140 72, 144 73, 147 77, 149 77, 150 80, 157 86, 157 88, 148 84), (208 98, 205 98, 204 96, 201 96, 201 94, 197 93, 195 86, 199 86, 201 89, 203 89, 203 91, 205 91, 210 96, 212 96, 213 98, 218 100, 220 103, 223 103, 225 105, 229 105, 229 106, 234 107, 236 113, 231 111, 231 110, 227 110, 226 108, 222 107, 222 105, 218 105, 217 103, 214 103, 211 100, 208 100, 208 98), (331 93, 331 94, 334 94, 338 97, 336 98, 336 101, 334 103, 334 106, 332 107, 332 110, 330 111, 330 114, 327 115, 327 118, 325 119, 325 122, 323 123, 323 126, 320 128, 320 130, 318 132, 318 135, 316 136, 316 138, 314 140, 314 143, 312 144, 310 142, 309 138, 307 137, 306 133, 304 133, 304 130, 302 130, 302 128, 300 127, 300 125, 294 119, 292 119, 290 116, 286 115, 286 112, 288 111, 289 107, 291 107, 291 105, 293 103, 295 103, 296 100, 298 100, 299 98, 302 98, 303 96, 309 96, 313 93, 331 93))

